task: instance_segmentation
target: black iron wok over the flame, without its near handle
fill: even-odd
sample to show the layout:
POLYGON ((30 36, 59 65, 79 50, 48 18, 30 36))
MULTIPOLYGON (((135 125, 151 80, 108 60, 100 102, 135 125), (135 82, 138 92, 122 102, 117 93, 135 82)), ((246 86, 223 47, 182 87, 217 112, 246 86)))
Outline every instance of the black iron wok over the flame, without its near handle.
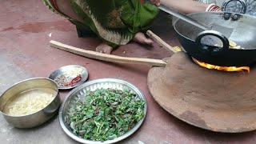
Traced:
POLYGON ((244 49, 230 49, 229 40, 218 31, 202 30, 182 19, 177 19, 174 22, 174 29, 187 54, 199 61, 217 66, 249 66, 256 62, 256 18, 228 12, 201 12, 189 15, 206 24, 215 22, 234 28, 229 40, 244 49), (214 46, 212 39, 207 38, 209 36, 220 39, 222 47, 214 46))

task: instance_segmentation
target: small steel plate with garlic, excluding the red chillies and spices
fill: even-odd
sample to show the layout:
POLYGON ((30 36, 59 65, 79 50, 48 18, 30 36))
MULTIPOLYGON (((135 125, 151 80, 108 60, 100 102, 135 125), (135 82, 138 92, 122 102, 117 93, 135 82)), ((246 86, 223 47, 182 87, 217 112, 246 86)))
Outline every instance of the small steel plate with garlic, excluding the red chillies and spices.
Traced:
MULTIPOLYGON (((71 86, 60 86, 58 85, 58 89, 60 90, 67 90, 72 89, 76 86, 81 85, 83 82, 86 82, 88 78, 88 71, 85 67, 78 66, 78 65, 69 65, 69 66, 62 66, 58 70, 55 70, 52 74, 50 74, 49 78, 54 80, 56 82, 56 78, 59 78, 61 76, 65 76, 66 80, 65 82, 70 82, 73 78, 75 78, 78 74, 81 74, 81 80, 77 83, 74 83, 74 85, 71 86)), ((58 82, 57 82, 58 84, 58 82)))

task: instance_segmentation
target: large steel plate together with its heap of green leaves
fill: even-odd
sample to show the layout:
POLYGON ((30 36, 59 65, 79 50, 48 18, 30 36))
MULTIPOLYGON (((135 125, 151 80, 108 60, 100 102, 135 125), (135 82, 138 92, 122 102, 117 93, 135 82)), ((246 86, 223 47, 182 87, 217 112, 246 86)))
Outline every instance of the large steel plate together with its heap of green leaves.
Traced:
POLYGON ((59 111, 62 129, 82 143, 114 143, 129 137, 146 116, 146 98, 120 79, 102 78, 70 91, 59 111))

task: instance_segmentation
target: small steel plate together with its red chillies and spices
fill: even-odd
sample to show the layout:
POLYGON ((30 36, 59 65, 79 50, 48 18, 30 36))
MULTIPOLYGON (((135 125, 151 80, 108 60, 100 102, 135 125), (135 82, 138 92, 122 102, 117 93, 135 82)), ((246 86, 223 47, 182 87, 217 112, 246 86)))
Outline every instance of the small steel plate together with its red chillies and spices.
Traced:
POLYGON ((83 66, 69 65, 54 70, 49 76, 57 83, 59 90, 68 90, 86 82, 88 71, 83 66))

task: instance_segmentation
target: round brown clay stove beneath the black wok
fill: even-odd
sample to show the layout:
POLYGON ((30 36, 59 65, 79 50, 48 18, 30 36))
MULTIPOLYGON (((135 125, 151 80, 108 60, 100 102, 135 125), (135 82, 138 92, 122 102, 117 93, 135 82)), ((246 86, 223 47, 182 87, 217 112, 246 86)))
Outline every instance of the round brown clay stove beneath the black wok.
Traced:
POLYGON ((147 84, 163 109, 193 126, 223 133, 256 129, 256 69, 250 74, 208 70, 185 53, 152 67, 147 84))

